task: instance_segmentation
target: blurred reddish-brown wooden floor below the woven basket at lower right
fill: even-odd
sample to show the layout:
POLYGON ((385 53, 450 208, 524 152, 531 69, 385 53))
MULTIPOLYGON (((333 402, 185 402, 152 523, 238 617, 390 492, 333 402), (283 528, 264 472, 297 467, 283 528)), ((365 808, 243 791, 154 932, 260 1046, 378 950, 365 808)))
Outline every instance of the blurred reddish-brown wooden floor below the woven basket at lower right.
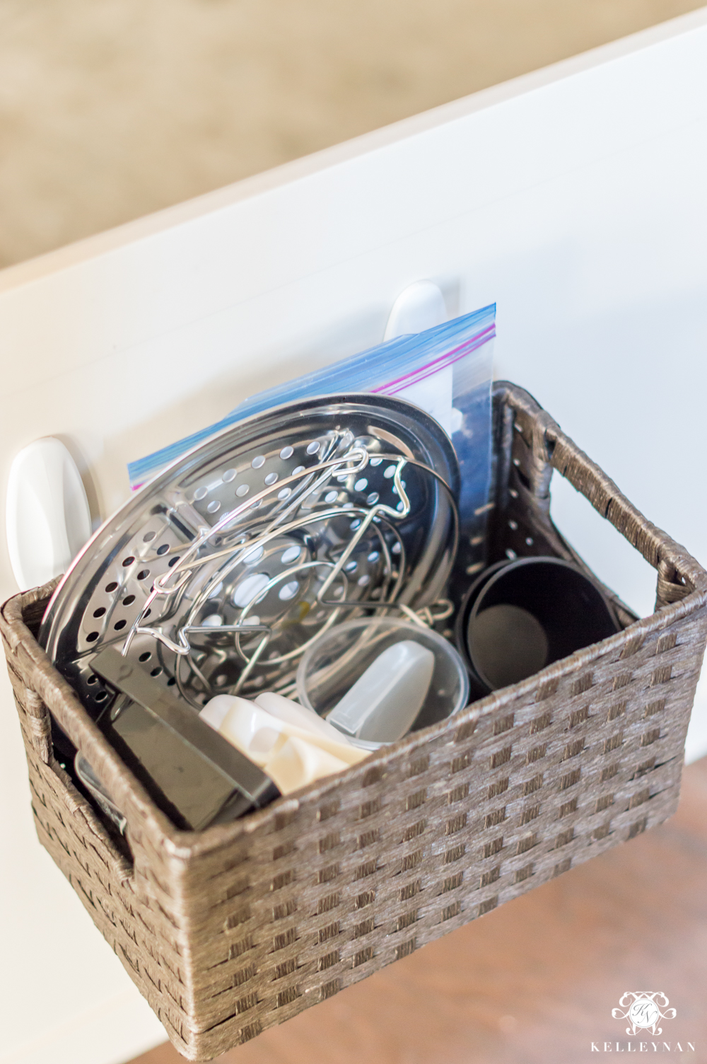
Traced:
MULTIPOLYGON (((221 1064, 582 1064, 668 1050, 707 1062, 707 759, 678 813, 219 1058, 221 1064), (632 1040, 626 991, 675 1007, 632 1040), (630 1041, 632 1049, 627 1049, 630 1041), (653 1048, 656 1043, 657 1050, 653 1048), (677 1048, 677 1045, 683 1049, 677 1048), (694 1045, 694 1051, 688 1044, 694 1045)), ((134 1064, 178 1064, 169 1045, 134 1064)))

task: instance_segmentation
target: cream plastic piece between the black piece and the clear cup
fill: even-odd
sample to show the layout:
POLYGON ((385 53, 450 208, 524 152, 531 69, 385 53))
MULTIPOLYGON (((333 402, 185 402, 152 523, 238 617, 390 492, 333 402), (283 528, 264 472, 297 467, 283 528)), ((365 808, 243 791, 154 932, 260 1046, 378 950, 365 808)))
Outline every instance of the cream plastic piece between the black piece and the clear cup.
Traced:
POLYGON ((336 729, 327 729, 333 733, 331 737, 322 734, 321 729, 313 728, 313 722, 325 722, 282 695, 273 695, 270 704, 282 716, 274 716, 247 698, 217 695, 206 703, 200 716, 259 765, 282 794, 340 772, 368 757, 366 750, 356 749, 336 729), (284 719, 285 716, 290 719, 284 719), (293 722, 303 717, 305 720, 314 718, 314 721, 306 721, 308 728, 293 722))

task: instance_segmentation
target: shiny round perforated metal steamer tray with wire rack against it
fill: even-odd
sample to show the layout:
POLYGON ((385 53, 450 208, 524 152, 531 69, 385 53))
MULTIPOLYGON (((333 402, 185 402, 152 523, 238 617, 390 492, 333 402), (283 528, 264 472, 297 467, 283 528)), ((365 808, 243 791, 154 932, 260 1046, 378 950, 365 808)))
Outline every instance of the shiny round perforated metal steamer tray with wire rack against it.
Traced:
POLYGON ((115 645, 195 708, 288 689, 312 639, 366 603, 443 593, 458 467, 410 403, 310 399, 245 420, 163 470, 88 542, 40 642, 94 716, 115 645))

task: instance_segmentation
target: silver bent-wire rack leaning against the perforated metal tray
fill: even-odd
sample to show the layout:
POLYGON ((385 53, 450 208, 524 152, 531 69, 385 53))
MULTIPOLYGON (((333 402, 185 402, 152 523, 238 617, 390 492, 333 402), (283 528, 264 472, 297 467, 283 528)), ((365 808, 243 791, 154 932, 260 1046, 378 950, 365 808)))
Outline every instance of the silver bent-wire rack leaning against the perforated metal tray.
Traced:
MULTIPOLYGON (((121 650, 123 655, 128 653, 135 636, 140 635, 154 638, 168 651, 175 654, 175 681, 183 697, 197 705, 193 697, 187 693, 184 686, 185 681, 181 668, 182 661, 186 659, 189 668, 199 680, 200 685, 203 686, 205 694, 224 694, 225 688, 215 691, 212 687, 209 681, 193 660, 196 648, 192 645, 192 639, 199 635, 218 636, 221 639, 223 636, 231 635, 233 636, 233 651, 245 663, 236 683, 228 688, 230 693, 237 694, 248 682, 255 667, 263 663, 263 655, 268 643, 276 632, 282 630, 282 625, 279 625, 276 621, 274 626, 273 624, 260 624, 259 618, 251 616, 251 611, 257 602, 262 601, 279 584, 287 580, 292 580, 298 573, 316 569, 329 569, 327 576, 320 582, 321 586, 316 593, 314 603, 317 606, 329 609, 331 611, 330 616, 310 638, 305 639, 293 649, 280 653, 276 658, 270 658, 267 662, 263 663, 268 668, 282 667, 296 661, 317 635, 335 624, 341 610, 359 609, 377 612, 397 608, 409 619, 418 624, 433 624, 434 621, 430 619, 433 617, 430 608, 424 608, 423 611, 416 612, 409 606, 397 602, 398 595, 401 593, 403 586, 406 559, 404 543, 395 526, 408 517, 411 512, 410 499, 405 491, 402 472, 406 465, 414 466, 432 477, 447 494, 453 519, 452 549, 456 553, 459 535, 457 508, 452 489, 436 470, 404 454, 387 453, 384 455, 374 455, 373 461, 375 465, 380 465, 381 461, 394 463, 392 489, 393 494, 400 500, 394 508, 376 499, 369 506, 347 502, 329 508, 325 506, 324 509, 317 509, 317 502, 315 501, 310 509, 305 509, 306 502, 313 500, 313 498, 315 500, 318 499, 322 491, 333 480, 341 483, 349 480, 349 478, 355 478, 366 468, 370 460, 371 455, 369 455, 365 447, 352 447, 346 454, 339 458, 326 459, 315 466, 293 472, 291 476, 279 481, 276 485, 273 484, 266 487, 263 492, 249 499, 248 502, 242 502, 228 511, 214 526, 200 528, 199 534, 186 550, 183 547, 179 549, 179 555, 176 555, 176 549, 171 551, 179 560, 154 581, 152 591, 148 595, 140 613, 125 635, 121 650), (249 536, 248 529, 238 528, 243 515, 248 514, 249 511, 253 512, 257 510, 264 502, 272 501, 274 495, 277 495, 280 498, 283 489, 290 485, 293 486, 291 496, 280 500, 282 505, 276 505, 275 514, 270 514, 269 518, 264 522, 265 527, 260 531, 249 536), (296 532, 302 532, 309 526, 332 520, 342 514, 347 517, 357 519, 358 526, 354 530, 354 535, 347 542, 343 550, 336 558, 336 561, 314 559, 291 566, 271 577, 267 584, 256 588, 251 599, 243 606, 239 606, 241 612, 236 624, 212 627, 195 622, 204 602, 208 601, 219 584, 222 584, 237 566, 248 565, 249 559, 252 559, 256 553, 259 560, 268 544, 277 538, 290 536, 296 532), (223 538, 228 538, 229 532, 235 533, 237 542, 223 545, 223 538), (365 597, 350 599, 348 597, 349 581, 344 568, 357 546, 370 533, 376 535, 381 544, 383 556, 382 582, 374 588, 378 597, 377 599, 365 597), (395 542, 392 548, 389 547, 386 533, 392 533, 393 535, 395 542), (211 550, 208 549, 209 547, 212 548, 211 550), (394 571, 393 553, 399 555, 397 558, 397 572, 394 571), (174 615, 179 608, 179 602, 182 600, 183 595, 186 594, 195 573, 202 566, 214 565, 220 559, 224 560, 224 564, 220 568, 217 568, 199 589, 199 594, 195 597, 195 601, 189 608, 185 624, 176 631, 176 639, 170 637, 162 630, 161 626, 170 616, 174 615), (327 592, 337 581, 341 581, 341 596, 338 598, 327 597, 327 592), (155 613, 155 617, 152 624, 146 625, 145 620, 150 613, 155 613), (420 616, 421 613, 425 614, 424 619, 420 616), (248 653, 243 649, 242 637, 246 634, 252 636, 257 633, 263 633, 263 638, 258 641, 253 651, 248 653)), ((251 562, 250 564, 253 563, 251 562)), ((305 600, 301 598, 298 601, 305 600)), ((297 603, 290 603, 290 605, 292 604, 297 603)), ((443 616, 449 616, 449 613, 444 613, 443 616)), ((442 615, 435 615, 434 619, 442 619, 442 615)), ((228 648, 222 647, 218 649, 212 647, 211 649, 222 654, 224 660, 228 656, 228 648)), ((287 682, 286 676, 281 678, 281 683, 283 681, 287 682)))

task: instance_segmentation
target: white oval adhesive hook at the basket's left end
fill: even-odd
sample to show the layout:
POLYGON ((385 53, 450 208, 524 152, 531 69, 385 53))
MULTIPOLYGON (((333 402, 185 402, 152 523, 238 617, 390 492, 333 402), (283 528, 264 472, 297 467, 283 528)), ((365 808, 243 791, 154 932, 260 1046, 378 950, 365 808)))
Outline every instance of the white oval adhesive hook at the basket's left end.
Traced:
POLYGON ((60 439, 36 439, 15 456, 6 532, 10 562, 22 591, 66 572, 90 536, 81 473, 60 439))

